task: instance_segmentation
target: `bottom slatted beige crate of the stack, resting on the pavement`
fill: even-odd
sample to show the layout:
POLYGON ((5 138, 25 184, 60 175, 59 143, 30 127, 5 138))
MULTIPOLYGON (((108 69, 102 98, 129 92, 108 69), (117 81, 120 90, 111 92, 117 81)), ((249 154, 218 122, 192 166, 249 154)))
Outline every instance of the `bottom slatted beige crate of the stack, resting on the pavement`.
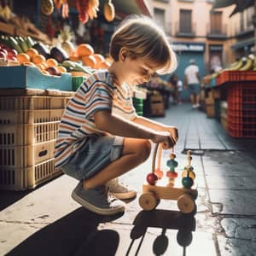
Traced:
POLYGON ((45 183, 61 174, 61 169, 55 168, 54 158, 45 160, 38 165, 24 168, 4 166, 0 167, 0 189, 17 191, 34 189, 39 184, 45 183))

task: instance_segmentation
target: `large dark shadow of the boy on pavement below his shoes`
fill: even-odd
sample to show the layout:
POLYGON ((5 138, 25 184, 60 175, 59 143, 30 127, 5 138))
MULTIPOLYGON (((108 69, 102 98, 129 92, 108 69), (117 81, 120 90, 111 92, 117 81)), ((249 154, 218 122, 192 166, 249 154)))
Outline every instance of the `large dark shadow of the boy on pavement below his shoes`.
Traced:
POLYGON ((6 255, 113 256, 119 246, 119 234, 97 230, 97 226, 122 215, 107 217, 80 207, 34 233, 6 255))

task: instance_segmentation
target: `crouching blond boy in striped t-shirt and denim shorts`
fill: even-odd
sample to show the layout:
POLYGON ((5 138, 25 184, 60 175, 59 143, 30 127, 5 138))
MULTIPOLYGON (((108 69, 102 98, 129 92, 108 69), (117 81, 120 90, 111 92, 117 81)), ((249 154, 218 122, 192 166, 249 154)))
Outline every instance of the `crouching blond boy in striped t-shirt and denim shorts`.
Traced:
POLYGON ((146 17, 125 20, 110 55, 111 67, 86 79, 68 102, 55 144, 55 166, 79 180, 73 200, 102 215, 124 212, 119 199, 136 195, 115 178, 147 160, 150 141, 165 149, 177 141, 176 127, 137 116, 131 101, 132 86, 177 65, 164 32, 146 17))

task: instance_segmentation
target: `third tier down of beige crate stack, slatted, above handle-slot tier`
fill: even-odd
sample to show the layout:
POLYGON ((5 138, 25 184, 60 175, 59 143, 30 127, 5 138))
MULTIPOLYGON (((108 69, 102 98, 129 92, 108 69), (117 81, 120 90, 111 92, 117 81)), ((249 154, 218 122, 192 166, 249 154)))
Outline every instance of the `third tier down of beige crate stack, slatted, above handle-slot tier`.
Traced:
POLYGON ((57 137, 60 121, 38 124, 1 125, 0 147, 44 143, 57 137))

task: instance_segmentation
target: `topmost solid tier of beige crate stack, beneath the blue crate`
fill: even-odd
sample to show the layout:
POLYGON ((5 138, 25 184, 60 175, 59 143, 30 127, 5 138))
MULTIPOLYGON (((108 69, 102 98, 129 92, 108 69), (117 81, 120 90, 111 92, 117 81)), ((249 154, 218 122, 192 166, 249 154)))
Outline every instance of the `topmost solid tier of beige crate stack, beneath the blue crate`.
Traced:
POLYGON ((0 96, 0 110, 64 109, 66 96, 0 96))

